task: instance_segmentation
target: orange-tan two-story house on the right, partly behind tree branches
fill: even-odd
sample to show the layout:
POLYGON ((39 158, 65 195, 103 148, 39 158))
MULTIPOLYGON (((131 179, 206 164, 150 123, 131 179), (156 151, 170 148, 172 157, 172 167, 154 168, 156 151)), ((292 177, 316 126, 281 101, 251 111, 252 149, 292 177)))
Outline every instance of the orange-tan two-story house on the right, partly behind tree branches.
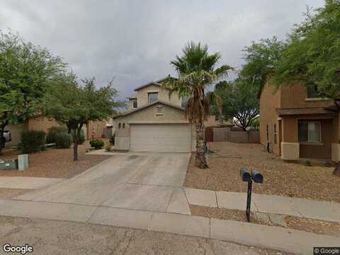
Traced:
POLYGON ((318 95, 316 86, 275 89, 267 83, 260 98, 261 144, 286 160, 339 161, 339 113, 329 110, 332 105, 318 95))

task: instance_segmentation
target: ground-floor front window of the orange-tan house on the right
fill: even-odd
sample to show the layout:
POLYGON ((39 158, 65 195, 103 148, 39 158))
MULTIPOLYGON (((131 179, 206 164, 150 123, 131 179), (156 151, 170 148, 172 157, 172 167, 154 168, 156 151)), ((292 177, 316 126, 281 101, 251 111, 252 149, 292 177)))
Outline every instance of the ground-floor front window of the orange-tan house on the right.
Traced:
POLYGON ((300 122, 299 142, 321 142, 321 123, 319 122, 300 122))

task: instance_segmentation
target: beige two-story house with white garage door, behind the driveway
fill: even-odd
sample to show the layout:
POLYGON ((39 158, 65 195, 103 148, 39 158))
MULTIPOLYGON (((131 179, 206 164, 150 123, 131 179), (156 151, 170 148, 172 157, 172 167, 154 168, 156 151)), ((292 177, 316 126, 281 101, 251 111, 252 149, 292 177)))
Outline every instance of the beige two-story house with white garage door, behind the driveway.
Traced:
POLYGON ((196 132, 181 98, 162 88, 165 77, 135 89, 128 112, 115 117, 115 149, 135 152, 192 152, 196 132))

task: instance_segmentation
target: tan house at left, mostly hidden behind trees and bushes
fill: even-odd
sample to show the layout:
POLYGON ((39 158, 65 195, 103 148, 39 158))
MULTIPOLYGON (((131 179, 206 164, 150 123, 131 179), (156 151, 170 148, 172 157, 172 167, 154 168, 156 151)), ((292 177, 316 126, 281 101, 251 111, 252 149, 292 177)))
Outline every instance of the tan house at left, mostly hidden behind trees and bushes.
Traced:
MULTIPOLYGON (((5 130, 11 131, 11 142, 6 142, 6 147, 18 145, 21 140, 21 132, 24 130, 43 130, 47 132, 49 128, 57 126, 60 126, 57 121, 45 116, 35 116, 18 125, 7 125, 5 130)), ((90 122, 83 128, 86 140, 101 138, 105 128, 106 121, 90 122)))

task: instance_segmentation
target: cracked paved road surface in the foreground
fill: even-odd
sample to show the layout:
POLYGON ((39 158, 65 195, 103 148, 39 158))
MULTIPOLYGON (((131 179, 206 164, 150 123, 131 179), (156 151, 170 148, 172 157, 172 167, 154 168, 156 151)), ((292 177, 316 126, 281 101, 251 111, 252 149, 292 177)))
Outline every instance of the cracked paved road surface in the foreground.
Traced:
POLYGON ((1 216, 0 225, 0 254, 5 254, 2 246, 6 243, 30 244, 35 255, 287 254, 200 237, 88 223, 1 216))

